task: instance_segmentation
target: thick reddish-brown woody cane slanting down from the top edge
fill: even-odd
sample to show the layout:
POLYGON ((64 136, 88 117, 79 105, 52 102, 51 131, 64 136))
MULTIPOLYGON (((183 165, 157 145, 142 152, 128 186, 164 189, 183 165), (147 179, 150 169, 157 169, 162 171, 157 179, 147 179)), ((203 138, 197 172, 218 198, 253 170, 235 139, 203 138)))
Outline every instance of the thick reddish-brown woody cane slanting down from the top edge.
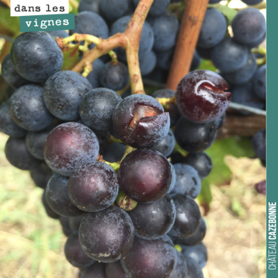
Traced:
POLYGON ((179 81, 188 74, 199 32, 202 27, 208 0, 188 0, 183 13, 179 38, 172 60, 167 88, 176 90, 179 81))

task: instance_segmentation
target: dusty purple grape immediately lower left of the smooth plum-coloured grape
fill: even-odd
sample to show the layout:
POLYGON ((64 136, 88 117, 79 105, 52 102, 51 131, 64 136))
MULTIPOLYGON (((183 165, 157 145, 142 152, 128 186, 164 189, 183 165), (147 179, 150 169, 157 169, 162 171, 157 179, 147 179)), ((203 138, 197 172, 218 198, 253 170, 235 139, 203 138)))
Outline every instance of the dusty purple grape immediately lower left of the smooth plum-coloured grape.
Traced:
POLYGON ((70 199, 82 211, 108 208, 115 202, 118 191, 117 174, 111 166, 99 161, 76 168, 68 182, 70 199))

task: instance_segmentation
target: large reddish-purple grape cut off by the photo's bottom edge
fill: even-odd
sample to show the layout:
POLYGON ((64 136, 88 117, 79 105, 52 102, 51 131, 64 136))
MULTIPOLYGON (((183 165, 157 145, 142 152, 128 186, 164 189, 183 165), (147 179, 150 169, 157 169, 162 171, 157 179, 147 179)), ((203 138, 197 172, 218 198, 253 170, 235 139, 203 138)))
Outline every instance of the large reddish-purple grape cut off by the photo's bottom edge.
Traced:
POLYGON ((155 240, 135 237, 121 263, 128 277, 167 278, 174 269, 175 259, 176 250, 169 236, 155 240))

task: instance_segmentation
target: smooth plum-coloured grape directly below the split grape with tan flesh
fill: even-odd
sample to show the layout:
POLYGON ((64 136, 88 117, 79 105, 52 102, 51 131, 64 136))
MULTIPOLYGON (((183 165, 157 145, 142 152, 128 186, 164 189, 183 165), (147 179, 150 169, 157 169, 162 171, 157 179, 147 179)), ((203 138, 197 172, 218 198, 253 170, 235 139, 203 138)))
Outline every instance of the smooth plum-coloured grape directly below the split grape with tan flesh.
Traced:
POLYGON ((124 158, 118 179, 122 191, 131 199, 154 202, 169 190, 172 169, 163 154, 152 149, 138 149, 124 158))

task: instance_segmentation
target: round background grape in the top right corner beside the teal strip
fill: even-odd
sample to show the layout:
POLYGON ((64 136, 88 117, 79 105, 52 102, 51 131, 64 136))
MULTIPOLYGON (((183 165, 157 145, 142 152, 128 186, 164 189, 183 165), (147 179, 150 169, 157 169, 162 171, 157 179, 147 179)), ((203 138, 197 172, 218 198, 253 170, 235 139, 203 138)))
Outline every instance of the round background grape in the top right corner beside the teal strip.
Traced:
POLYGON ((231 22, 231 28, 235 40, 241 44, 250 44, 266 32, 265 17, 256 8, 240 10, 231 22))

